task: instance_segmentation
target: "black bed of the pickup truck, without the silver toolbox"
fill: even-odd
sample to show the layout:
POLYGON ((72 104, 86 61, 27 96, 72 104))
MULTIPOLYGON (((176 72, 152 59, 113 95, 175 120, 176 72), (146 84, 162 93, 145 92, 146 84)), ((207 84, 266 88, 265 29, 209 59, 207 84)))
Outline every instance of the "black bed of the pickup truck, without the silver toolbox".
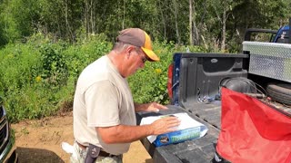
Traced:
MULTIPOLYGON (((193 119, 206 125, 208 131, 203 138, 157 148, 148 139, 141 141, 156 163, 212 162, 221 129, 220 101, 213 100, 219 100, 216 97, 220 95, 221 82, 227 78, 247 78, 266 89, 265 84, 271 79, 264 75, 248 73, 250 61, 249 54, 246 53, 175 53, 173 61, 173 75, 169 77, 173 83, 170 87, 173 91, 171 98, 173 105, 168 105, 168 110, 161 110, 158 113, 138 113, 136 114, 137 122, 140 124, 141 119, 147 116, 186 112, 193 119)), ((286 68, 289 69, 289 60, 285 63, 286 68)), ((290 76, 286 74, 289 73, 284 73, 279 77, 290 76)), ((240 82, 237 82, 236 85, 240 85, 240 82)), ((291 114, 290 106, 275 101, 264 102, 275 110, 291 114)))

